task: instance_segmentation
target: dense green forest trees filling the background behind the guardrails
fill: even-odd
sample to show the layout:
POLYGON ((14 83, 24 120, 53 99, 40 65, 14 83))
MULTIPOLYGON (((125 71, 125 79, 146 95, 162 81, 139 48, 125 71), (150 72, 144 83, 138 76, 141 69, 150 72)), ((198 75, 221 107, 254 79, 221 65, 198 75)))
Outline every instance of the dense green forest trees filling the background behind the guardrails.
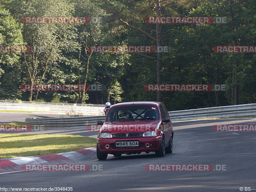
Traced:
POLYGON ((162 100, 168 110, 256 103, 255 53, 215 53, 255 45, 255 0, 0 1, 0 42, 46 47, 0 52, 0 99, 111 104, 162 100), (57 7, 56 7, 57 6, 57 7), (87 16, 88 24, 24 24, 24 16, 87 16), (146 17, 226 17, 220 24, 148 24, 146 17), (101 17, 102 23, 92 22, 101 17), (157 35, 158 34, 158 35, 157 35), (90 53, 87 46, 169 46, 169 52, 90 53), (34 56, 33 56, 34 55, 34 56), (36 57, 35 57, 36 56, 36 57), (47 60, 48 59, 48 60, 47 60), (36 71, 34 78, 29 72, 36 71), (21 84, 103 84, 102 92, 22 92, 21 84), (146 84, 225 84, 222 92, 152 92, 146 84))

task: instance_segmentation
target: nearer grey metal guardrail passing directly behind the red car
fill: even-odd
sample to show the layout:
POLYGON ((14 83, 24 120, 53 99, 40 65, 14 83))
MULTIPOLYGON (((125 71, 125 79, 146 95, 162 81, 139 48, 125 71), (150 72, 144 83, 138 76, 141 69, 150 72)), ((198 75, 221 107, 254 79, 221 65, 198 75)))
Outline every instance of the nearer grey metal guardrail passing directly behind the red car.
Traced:
MULTIPOLYGON (((232 105, 224 107, 200 108, 168 112, 172 121, 191 120, 213 117, 256 115, 256 104, 232 105)), ((73 127, 96 124, 105 120, 105 116, 60 117, 60 118, 26 118, 26 123, 44 125, 44 127, 73 127)))

